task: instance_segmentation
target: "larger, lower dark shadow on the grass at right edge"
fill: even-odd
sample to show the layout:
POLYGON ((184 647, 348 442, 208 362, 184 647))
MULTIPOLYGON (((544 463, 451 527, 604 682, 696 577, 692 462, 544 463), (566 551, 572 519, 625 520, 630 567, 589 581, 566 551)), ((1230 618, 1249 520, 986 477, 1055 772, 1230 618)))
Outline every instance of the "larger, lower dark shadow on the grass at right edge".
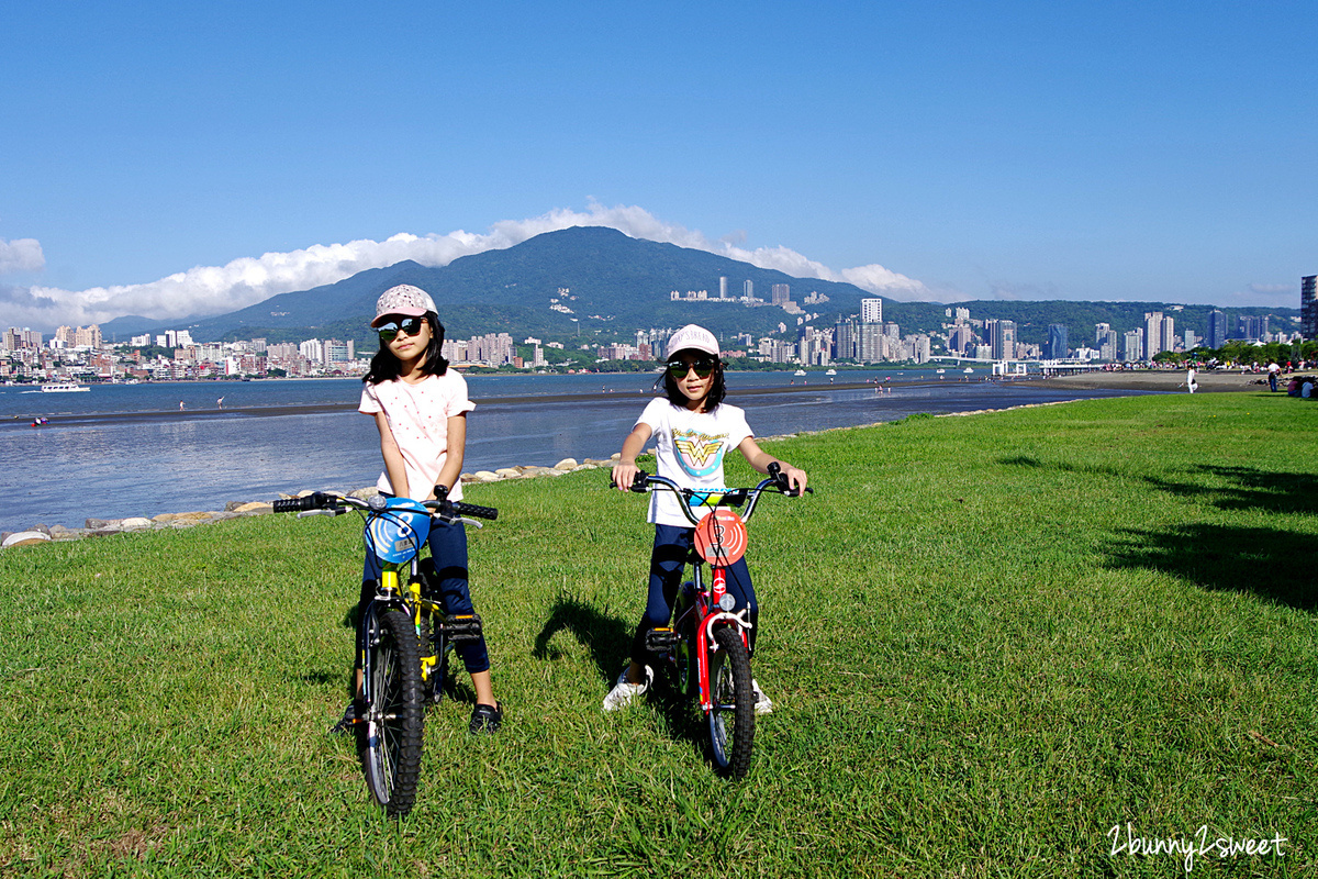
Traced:
POLYGON ((1318 610, 1318 538, 1310 534, 1218 525, 1123 528, 1107 555, 1108 568, 1162 571, 1205 589, 1318 610))

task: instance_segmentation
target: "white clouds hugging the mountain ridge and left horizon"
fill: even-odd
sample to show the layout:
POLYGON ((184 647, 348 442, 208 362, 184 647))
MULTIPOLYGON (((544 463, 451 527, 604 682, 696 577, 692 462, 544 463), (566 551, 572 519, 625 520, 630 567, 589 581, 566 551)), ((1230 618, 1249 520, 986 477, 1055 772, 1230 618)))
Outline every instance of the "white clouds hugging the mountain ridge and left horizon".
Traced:
MULTIPOLYGON (((366 239, 347 244, 318 244, 289 253, 244 257, 223 266, 196 266, 149 283, 90 290, 34 286, 24 291, 25 295, 11 290, 11 295, 0 297, 0 311, 7 326, 83 326, 123 315, 182 319, 224 314, 281 293, 333 283, 365 269, 378 269, 403 260, 443 266, 461 256, 510 248, 544 232, 579 225, 610 227, 634 239, 706 250, 799 278, 845 281, 871 293, 902 299, 929 298, 929 290, 921 282, 880 265, 833 271, 783 246, 754 250, 738 246, 745 239, 742 232, 721 241, 710 241, 699 231, 663 223, 643 208, 604 207, 590 200, 585 211, 555 210, 529 220, 503 220, 490 227, 485 235, 461 229, 448 235, 399 233, 385 241, 366 239)), ((0 241, 0 270, 11 265, 32 270, 43 264, 37 241, 0 241)))

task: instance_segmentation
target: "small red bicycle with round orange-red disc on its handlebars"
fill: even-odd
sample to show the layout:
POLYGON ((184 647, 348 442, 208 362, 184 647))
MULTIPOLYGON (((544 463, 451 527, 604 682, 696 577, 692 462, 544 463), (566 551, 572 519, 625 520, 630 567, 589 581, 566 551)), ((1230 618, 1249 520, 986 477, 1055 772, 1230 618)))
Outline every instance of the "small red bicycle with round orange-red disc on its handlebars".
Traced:
MULTIPOLYGON (((696 526, 687 561, 692 580, 681 584, 673 604, 672 626, 652 629, 646 647, 658 655, 670 683, 683 696, 699 695, 709 725, 709 746, 720 772, 739 779, 750 768, 755 739, 755 696, 751 691, 747 633, 749 609, 733 613, 728 567, 746 552, 746 522, 764 492, 796 497, 776 463, 755 488, 684 489, 663 476, 637 473, 633 492, 672 492, 683 515, 696 526), (733 507, 745 505, 745 513, 733 507), (713 507, 701 517, 692 507, 713 507), (706 580, 704 567, 709 565, 706 580)), ((813 489, 805 489, 813 493, 813 489)))

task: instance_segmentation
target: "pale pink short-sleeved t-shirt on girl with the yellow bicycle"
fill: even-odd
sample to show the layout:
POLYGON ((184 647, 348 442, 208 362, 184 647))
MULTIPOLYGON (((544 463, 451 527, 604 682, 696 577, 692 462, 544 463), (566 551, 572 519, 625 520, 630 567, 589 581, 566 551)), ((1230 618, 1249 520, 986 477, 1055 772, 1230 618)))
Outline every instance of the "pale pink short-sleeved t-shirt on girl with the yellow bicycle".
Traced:
MULTIPOLYGON (((427 376, 415 385, 401 378, 378 385, 366 382, 357 405, 358 412, 385 414, 398 451, 403 453, 407 489, 416 499, 430 494, 448 460, 448 419, 473 409, 476 403, 467 398, 467 380, 456 369, 448 369, 443 376, 427 376)), ((387 472, 380 474, 376 488, 398 494, 389 484, 387 472)), ((461 480, 453 480, 448 499, 463 499, 461 480)))

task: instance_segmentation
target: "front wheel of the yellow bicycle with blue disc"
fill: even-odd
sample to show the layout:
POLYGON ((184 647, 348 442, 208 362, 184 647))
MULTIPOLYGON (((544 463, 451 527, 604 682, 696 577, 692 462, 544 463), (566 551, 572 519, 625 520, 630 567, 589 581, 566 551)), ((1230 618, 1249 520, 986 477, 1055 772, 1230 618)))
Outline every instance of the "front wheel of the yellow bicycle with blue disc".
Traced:
POLYGON ((390 818, 406 816, 416 801, 420 776, 420 659, 416 629, 407 614, 386 610, 366 618, 366 667, 370 704, 357 725, 357 752, 366 788, 390 818))

